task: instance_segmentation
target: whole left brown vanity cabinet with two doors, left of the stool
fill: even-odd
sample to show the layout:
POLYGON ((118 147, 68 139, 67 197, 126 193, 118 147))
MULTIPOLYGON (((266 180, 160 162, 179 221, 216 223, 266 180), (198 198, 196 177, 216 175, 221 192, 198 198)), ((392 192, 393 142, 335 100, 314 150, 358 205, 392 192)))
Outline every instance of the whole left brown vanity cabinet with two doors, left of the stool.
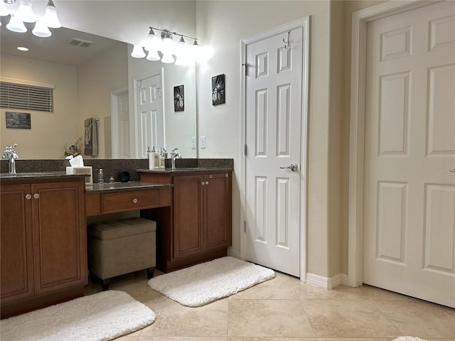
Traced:
POLYGON ((82 296, 84 188, 83 178, 1 184, 2 318, 82 296))

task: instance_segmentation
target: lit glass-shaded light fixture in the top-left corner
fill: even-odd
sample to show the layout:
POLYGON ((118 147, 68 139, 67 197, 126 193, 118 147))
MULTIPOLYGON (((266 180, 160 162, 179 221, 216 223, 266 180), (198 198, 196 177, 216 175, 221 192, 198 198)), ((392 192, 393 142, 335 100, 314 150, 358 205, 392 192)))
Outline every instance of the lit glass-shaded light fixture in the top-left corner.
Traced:
POLYGON ((27 31, 24 23, 35 23, 32 33, 38 37, 50 37, 49 28, 62 27, 53 0, 48 0, 41 18, 33 13, 31 0, 0 0, 0 16, 10 16, 6 28, 18 33, 27 31))

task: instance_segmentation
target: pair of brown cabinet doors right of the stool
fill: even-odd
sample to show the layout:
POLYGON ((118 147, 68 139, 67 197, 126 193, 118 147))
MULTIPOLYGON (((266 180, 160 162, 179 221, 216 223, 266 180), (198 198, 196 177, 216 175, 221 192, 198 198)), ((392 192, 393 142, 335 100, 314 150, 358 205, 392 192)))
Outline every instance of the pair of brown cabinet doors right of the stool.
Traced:
POLYGON ((173 184, 174 258, 229 247, 229 174, 175 176, 173 184))

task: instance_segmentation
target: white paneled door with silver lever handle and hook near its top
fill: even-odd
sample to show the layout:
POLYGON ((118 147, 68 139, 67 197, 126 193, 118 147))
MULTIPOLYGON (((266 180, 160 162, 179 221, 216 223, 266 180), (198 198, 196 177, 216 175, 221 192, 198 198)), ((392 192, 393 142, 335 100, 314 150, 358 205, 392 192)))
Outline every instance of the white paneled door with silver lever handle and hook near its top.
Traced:
POLYGON ((246 47, 246 258, 294 276, 301 257, 302 55, 302 28, 246 47))

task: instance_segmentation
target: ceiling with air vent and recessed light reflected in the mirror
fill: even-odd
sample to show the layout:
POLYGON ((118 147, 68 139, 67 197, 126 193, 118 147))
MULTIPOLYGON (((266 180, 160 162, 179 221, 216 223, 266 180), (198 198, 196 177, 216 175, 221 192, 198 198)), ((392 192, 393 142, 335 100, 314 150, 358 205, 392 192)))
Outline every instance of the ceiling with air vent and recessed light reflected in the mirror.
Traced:
POLYGON ((6 28, 9 16, 1 17, 0 20, 0 52, 10 55, 20 55, 21 57, 67 65, 79 65, 90 60, 97 53, 121 43, 117 40, 74 31, 69 28, 50 28, 52 36, 39 38, 31 33, 34 23, 26 23, 28 28, 26 33, 16 33, 6 28), (72 38, 89 40, 93 44, 87 48, 70 45, 68 42, 72 38), (18 46, 24 46, 29 50, 26 52, 17 50, 18 46))

